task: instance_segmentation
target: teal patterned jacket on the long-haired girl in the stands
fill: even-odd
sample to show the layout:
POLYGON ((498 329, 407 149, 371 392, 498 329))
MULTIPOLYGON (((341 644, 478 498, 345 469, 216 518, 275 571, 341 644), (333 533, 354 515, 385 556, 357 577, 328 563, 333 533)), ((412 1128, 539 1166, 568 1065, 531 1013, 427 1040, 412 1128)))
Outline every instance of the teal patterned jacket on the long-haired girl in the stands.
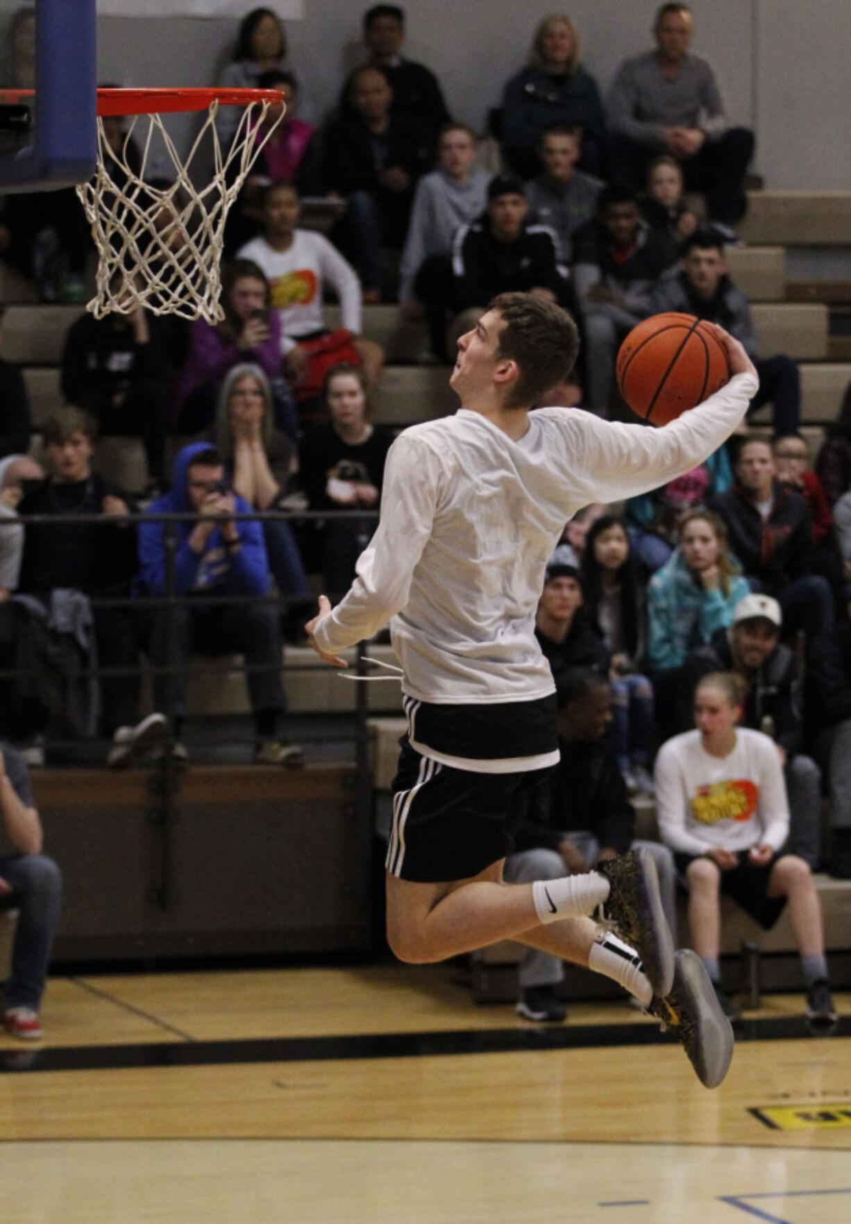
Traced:
POLYGON ((727 595, 720 586, 704 590, 692 578, 680 550, 675 548, 648 585, 648 659, 651 668, 680 667, 689 650, 709 641, 716 629, 732 624, 733 610, 749 590, 747 579, 741 574, 731 575, 727 595))

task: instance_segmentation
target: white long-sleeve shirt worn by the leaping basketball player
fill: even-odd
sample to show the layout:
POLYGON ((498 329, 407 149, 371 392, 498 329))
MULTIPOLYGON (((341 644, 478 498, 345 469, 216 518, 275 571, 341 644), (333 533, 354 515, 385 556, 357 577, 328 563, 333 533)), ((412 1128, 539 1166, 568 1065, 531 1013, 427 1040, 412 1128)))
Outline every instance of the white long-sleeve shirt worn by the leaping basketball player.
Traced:
POLYGON ((659 430, 562 408, 530 412, 519 442, 467 409, 405 430, 387 457, 378 529, 316 644, 336 655, 391 621, 403 692, 416 700, 546 696, 535 610, 564 523, 703 463, 757 386, 737 375, 659 430))

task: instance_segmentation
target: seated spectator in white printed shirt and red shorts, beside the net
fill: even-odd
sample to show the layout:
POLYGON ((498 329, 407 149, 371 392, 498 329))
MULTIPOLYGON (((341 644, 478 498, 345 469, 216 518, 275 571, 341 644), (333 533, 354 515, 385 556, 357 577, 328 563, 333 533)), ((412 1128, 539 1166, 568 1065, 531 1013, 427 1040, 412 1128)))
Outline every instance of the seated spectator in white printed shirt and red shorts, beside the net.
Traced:
POLYGON ((301 203, 291 184, 276 182, 263 202, 263 236, 244 246, 239 257, 251 259, 269 283, 272 307, 280 323, 284 370, 300 404, 302 422, 315 419, 322 376, 337 360, 361 362, 375 386, 384 353, 361 332, 361 291, 354 269, 331 242, 299 229, 301 203), (340 301, 343 327, 329 332, 322 317, 326 289, 340 301))

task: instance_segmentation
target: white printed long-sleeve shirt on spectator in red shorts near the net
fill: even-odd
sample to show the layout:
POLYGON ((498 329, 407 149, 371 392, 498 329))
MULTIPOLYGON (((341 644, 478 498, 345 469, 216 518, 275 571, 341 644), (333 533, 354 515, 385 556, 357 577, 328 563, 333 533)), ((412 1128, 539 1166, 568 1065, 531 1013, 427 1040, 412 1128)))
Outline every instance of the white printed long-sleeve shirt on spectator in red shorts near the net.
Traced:
POLYGON ((252 259, 269 283, 272 306, 280 317, 284 353, 295 346, 299 337, 324 327, 324 285, 331 285, 340 300, 342 326, 360 335, 360 280, 351 264, 322 234, 296 230, 287 251, 276 251, 264 237, 253 237, 236 253, 240 259, 252 259))

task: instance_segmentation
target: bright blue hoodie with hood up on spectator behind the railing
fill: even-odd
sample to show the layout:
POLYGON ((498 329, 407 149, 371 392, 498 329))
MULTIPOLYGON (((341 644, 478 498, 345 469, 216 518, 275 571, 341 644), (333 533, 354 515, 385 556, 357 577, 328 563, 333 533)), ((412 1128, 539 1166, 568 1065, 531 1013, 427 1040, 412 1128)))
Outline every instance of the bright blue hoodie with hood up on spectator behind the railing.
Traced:
MULTIPOLYGON (((178 452, 174 460, 174 483, 170 493, 158 497, 142 514, 138 528, 140 578, 151 595, 165 592, 165 524, 146 523, 146 515, 184 513, 192 509, 186 492, 189 468, 195 455, 209 450, 209 442, 191 442, 178 452)), ((240 514, 251 514, 252 507, 241 497, 235 498, 240 514)), ((258 521, 240 521, 241 548, 228 550, 218 528, 198 554, 189 546, 193 523, 178 524, 178 550, 174 577, 175 594, 209 591, 214 595, 267 595, 269 563, 266 556, 263 529, 258 521)))

